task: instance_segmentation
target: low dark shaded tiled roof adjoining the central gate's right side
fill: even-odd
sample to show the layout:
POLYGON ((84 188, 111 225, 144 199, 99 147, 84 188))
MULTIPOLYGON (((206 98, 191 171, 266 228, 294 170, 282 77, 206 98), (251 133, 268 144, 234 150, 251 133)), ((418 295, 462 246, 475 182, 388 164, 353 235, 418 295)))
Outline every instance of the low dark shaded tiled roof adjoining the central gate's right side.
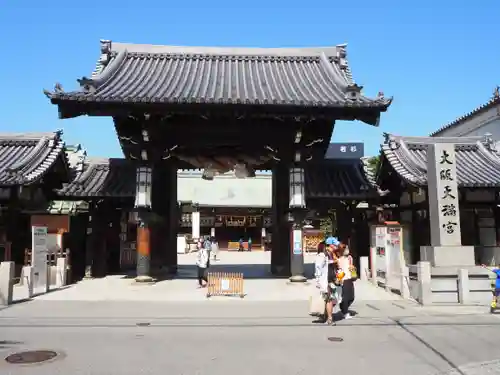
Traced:
POLYGON ((306 168, 307 198, 366 199, 377 190, 361 160, 311 164, 306 168))

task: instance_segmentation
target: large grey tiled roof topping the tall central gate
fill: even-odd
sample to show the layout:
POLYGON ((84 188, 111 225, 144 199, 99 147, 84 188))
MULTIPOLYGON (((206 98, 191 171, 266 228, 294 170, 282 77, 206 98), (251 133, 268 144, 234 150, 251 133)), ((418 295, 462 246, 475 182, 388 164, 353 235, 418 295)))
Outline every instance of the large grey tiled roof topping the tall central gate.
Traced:
POLYGON ((174 47, 101 41, 102 55, 79 91, 56 85, 53 103, 140 102, 374 108, 391 99, 360 93, 346 46, 325 48, 174 47))

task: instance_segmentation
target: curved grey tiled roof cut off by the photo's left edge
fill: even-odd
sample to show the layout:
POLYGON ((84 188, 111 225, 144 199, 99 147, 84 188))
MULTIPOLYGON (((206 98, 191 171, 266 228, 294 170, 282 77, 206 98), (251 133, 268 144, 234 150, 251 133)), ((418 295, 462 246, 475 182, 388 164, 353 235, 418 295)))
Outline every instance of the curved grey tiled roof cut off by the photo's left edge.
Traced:
POLYGON ((63 158, 62 131, 0 133, 0 186, 29 185, 40 180, 63 158))

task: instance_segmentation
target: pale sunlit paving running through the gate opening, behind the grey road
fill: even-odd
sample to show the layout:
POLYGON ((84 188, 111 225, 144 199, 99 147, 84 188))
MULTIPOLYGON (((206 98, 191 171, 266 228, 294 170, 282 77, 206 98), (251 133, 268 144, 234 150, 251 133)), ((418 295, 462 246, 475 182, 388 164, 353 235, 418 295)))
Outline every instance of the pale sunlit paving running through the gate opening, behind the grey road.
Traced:
MULTIPOLYGON (((315 283, 290 285, 286 279, 275 279, 269 273, 269 252, 221 252, 220 261, 211 267, 212 271, 243 272, 245 275, 245 301, 295 301, 307 300, 315 292, 315 283)), ((305 257, 306 273, 313 274, 314 255, 305 257)), ((140 285, 133 278, 124 275, 108 276, 103 279, 84 280, 45 295, 36 297, 50 301, 202 301, 206 290, 197 289, 195 254, 179 255, 179 276, 174 280, 140 285)), ((376 288, 369 283, 356 283, 357 298, 360 300, 397 300, 398 296, 376 288)), ((15 300, 27 297, 26 287, 16 287, 15 300)), ((219 297, 221 298, 221 297, 219 297)), ((217 300, 218 298, 213 298, 217 300)))

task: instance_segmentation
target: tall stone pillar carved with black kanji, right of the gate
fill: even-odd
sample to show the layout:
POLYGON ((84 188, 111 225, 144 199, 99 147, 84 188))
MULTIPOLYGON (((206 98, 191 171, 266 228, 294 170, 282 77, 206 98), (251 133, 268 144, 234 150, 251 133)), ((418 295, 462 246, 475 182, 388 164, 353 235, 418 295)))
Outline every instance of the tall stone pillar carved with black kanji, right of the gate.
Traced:
POLYGON ((460 246, 462 241, 455 145, 429 145, 427 163, 431 245, 460 246))

